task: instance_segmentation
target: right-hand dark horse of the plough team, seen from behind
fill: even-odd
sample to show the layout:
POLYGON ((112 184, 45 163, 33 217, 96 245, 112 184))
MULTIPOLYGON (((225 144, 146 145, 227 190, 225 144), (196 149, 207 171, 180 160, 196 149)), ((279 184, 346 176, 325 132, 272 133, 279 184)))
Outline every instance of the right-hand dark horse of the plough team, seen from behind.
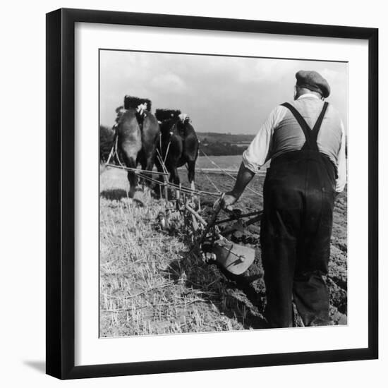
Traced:
MULTIPOLYGON (((161 122, 158 150, 170 173, 169 181, 179 185, 178 167, 187 164, 188 181, 194 189, 195 161, 198 157, 199 142, 190 119, 178 110, 157 109, 155 115, 161 122)), ((158 159, 156 164, 158 171, 163 171, 158 159)))

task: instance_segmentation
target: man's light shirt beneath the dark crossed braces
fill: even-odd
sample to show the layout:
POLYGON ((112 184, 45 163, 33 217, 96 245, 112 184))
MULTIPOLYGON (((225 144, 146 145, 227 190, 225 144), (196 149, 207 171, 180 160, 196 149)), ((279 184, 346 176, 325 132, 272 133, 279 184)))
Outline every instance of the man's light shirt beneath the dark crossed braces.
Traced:
MULTIPOLYGON (((312 93, 306 93, 291 104, 296 107, 310 128, 313 128, 317 116, 322 111, 323 101, 312 93)), ((250 171, 257 173, 269 159, 285 152, 301 150, 304 143, 305 135, 301 126, 288 108, 279 105, 272 110, 243 153, 243 164, 250 171)), ((322 121, 317 145, 320 152, 326 154, 336 166, 338 174, 336 191, 341 192, 346 185, 346 135, 344 124, 332 104, 329 104, 325 119, 322 121)))

